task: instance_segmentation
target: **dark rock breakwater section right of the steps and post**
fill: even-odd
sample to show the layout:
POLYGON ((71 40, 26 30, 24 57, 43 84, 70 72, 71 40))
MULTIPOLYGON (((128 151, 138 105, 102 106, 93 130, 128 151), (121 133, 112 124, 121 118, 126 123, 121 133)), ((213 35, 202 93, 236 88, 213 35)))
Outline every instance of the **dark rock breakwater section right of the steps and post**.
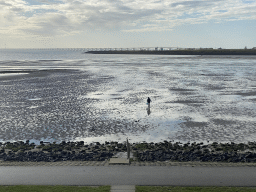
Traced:
POLYGON ((141 143, 135 147, 139 161, 256 162, 256 142, 240 143, 141 143))

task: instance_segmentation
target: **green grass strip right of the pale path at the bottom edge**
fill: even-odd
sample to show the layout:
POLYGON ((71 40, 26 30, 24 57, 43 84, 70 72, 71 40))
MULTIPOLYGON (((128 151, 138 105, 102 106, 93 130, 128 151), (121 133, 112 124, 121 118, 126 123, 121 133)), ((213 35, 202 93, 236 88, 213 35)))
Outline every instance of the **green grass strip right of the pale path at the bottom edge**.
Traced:
POLYGON ((256 187, 136 186, 136 192, 256 192, 256 187))

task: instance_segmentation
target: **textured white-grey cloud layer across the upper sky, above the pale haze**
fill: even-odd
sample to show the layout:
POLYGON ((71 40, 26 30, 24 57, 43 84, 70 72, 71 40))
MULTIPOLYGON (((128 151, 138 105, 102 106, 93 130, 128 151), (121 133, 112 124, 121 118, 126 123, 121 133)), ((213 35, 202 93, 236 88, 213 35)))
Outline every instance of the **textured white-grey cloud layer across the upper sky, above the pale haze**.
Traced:
POLYGON ((70 35, 86 30, 171 30, 208 21, 255 20, 256 1, 0 0, 0 33, 70 35))

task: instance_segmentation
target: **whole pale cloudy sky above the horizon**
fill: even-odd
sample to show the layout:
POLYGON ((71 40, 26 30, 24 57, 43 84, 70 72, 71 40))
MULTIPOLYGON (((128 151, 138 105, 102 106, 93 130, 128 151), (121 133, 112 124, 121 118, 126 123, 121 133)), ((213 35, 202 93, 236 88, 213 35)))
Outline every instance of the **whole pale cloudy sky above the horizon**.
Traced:
POLYGON ((245 46, 256 0, 0 0, 0 48, 245 46))

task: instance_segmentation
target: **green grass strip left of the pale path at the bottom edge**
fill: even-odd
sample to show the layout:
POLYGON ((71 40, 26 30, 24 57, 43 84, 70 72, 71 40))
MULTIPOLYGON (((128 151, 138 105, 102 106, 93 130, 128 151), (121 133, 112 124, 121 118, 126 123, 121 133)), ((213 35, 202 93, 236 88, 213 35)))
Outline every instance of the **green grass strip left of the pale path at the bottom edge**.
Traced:
POLYGON ((110 186, 14 185, 0 186, 0 192, 109 192, 110 186))

